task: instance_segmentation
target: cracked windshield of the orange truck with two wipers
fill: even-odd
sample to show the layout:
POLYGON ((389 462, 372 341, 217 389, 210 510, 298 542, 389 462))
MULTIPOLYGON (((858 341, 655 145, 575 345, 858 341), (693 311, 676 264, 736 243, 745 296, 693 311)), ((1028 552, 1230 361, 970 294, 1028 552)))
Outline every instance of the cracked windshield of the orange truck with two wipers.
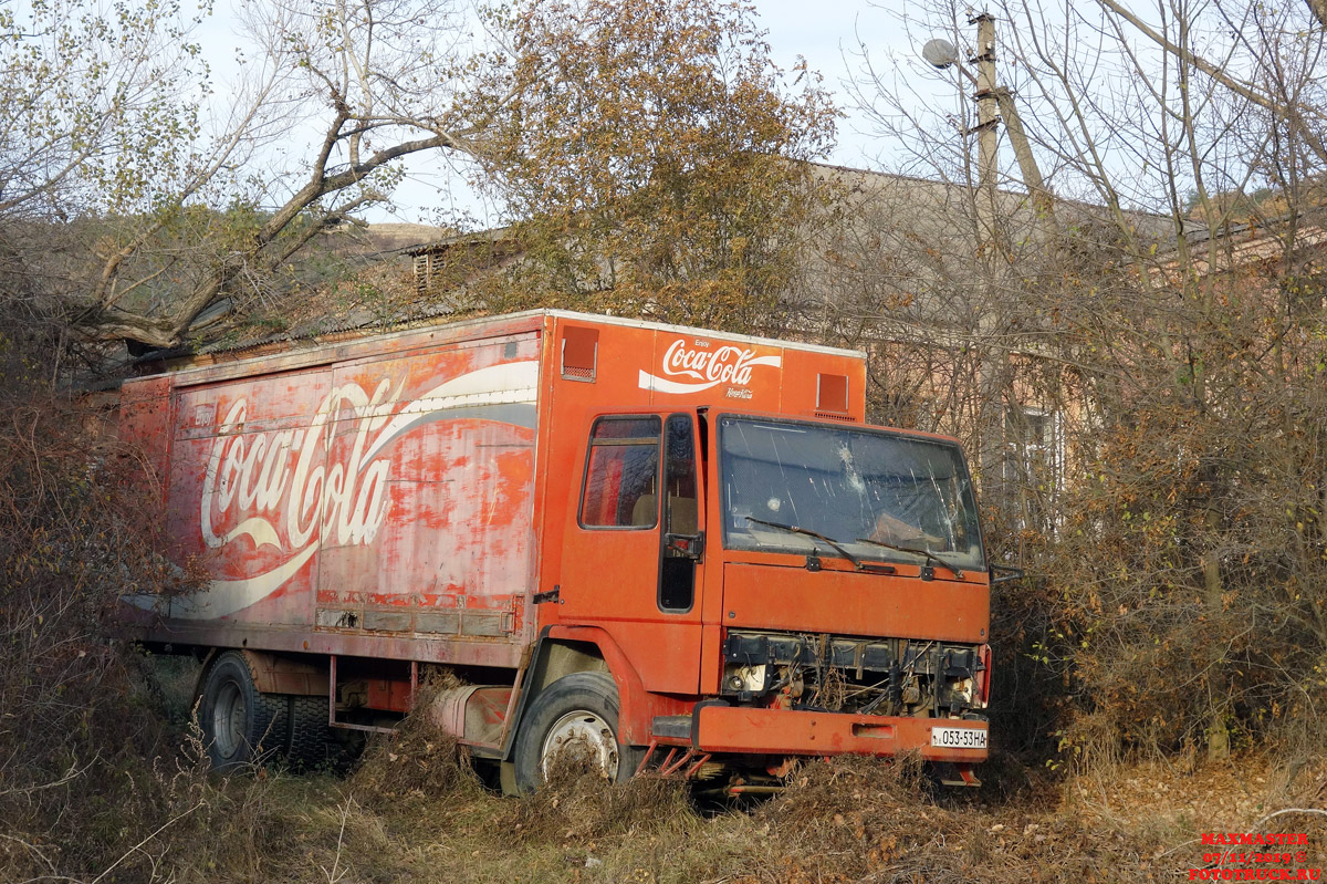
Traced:
POLYGON ((977 504, 954 443, 783 421, 719 419, 723 546, 985 568, 977 504), (912 552, 917 551, 917 552, 912 552), (841 551, 840 551, 841 552, 841 551))

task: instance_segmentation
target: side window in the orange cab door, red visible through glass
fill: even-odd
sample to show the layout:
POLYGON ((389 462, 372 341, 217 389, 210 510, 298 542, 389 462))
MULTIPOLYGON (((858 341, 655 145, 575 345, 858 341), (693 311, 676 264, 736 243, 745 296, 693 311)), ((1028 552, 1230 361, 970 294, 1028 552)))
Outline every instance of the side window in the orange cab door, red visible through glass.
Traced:
POLYGON ((581 527, 653 528, 658 524, 661 430, 657 417, 594 421, 581 491, 581 527))

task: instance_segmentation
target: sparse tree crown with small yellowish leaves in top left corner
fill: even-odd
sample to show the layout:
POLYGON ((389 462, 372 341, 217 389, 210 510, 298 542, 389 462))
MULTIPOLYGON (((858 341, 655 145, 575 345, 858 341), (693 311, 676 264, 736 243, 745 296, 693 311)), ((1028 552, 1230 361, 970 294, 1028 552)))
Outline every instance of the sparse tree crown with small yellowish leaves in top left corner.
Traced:
POLYGON ((141 196, 198 133, 196 24, 176 4, 0 8, 0 216, 141 196))

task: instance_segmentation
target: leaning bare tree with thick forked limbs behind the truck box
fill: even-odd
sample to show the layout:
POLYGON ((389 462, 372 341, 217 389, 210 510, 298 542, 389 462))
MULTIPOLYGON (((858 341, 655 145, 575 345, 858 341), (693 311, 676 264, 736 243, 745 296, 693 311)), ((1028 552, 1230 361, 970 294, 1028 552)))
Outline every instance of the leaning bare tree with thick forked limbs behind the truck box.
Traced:
MULTIPOLYGON (((474 151, 482 118, 458 119, 451 104, 464 64, 454 11, 434 0, 358 0, 283 4, 248 11, 259 48, 251 78, 224 133, 199 151, 163 204, 141 212, 105 255, 78 328, 98 337, 127 337, 170 346, 223 299, 260 296, 320 231, 353 220, 386 202, 401 182, 395 161, 422 151, 474 151), (271 162, 291 133, 309 134, 312 149, 291 166, 252 174, 271 162), (296 182, 291 184, 289 182, 296 182), (247 191, 236 184, 247 186, 247 191), (216 224, 202 236, 163 243, 166 228, 202 195, 239 194, 249 224, 216 224), (275 198, 275 199, 273 199, 275 198), (154 246, 163 244, 162 254, 154 246), (198 260, 198 258, 204 260, 198 260), (188 267, 176 291, 154 288, 151 301, 131 300, 167 268, 188 267)), ((207 202, 206 199, 203 202, 207 202)))

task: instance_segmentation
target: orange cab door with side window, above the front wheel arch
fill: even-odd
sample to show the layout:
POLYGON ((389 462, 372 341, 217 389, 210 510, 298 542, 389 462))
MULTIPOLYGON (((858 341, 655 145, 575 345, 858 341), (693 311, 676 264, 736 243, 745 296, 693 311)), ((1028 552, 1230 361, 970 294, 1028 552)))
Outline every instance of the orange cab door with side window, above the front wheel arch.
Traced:
POLYGON ((695 415, 612 414, 589 430, 559 612, 618 642, 646 690, 699 685, 703 500, 695 415))

